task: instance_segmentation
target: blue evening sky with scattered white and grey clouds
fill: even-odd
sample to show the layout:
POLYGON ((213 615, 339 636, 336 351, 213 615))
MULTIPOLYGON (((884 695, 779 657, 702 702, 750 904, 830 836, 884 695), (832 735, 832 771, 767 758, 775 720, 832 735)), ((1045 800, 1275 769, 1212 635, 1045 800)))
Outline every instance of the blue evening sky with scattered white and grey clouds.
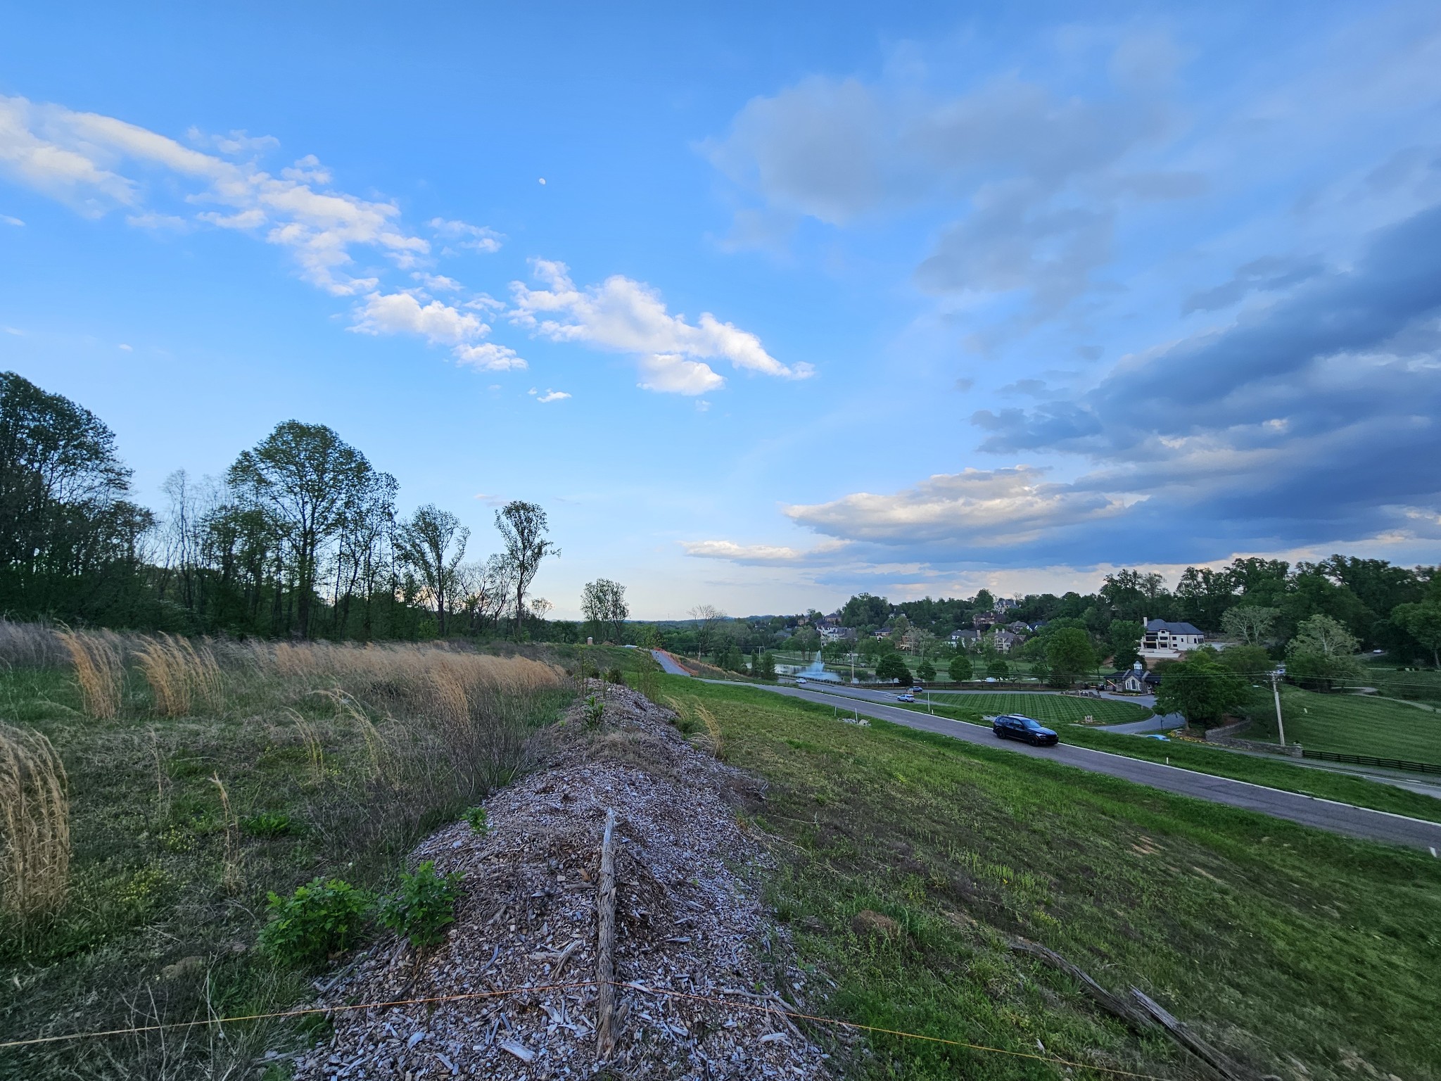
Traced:
POLYGON ((0 365, 157 507, 536 500, 562 615, 1437 561, 1434 4, 693 7, 10 4, 0 365))

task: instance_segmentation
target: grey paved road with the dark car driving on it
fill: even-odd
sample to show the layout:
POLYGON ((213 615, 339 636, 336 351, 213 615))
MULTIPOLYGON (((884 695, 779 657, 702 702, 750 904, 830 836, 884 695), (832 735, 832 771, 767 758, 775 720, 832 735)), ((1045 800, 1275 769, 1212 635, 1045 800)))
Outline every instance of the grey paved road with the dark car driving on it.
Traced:
MULTIPOLYGON (((856 693, 856 688, 844 688, 843 693, 837 695, 808 688, 748 686, 758 686, 761 690, 803 698, 823 705, 836 705, 839 698, 860 698, 856 693)), ((981 725, 968 725, 963 721, 916 713, 911 709, 896 709, 895 706, 880 705, 875 700, 866 703, 866 715, 906 725, 908 728, 918 728, 924 732, 940 732, 941 735, 954 737, 971 744, 997 747, 1016 754, 1030 755, 1032 758, 1046 758, 1053 762, 1074 765, 1089 773, 1120 777, 1136 784, 1148 784, 1153 788, 1192 796, 1197 800, 1210 800, 1212 803, 1223 803, 1229 807, 1244 807, 1245 810, 1272 814, 1278 819, 1290 819, 1291 822, 1316 826, 1331 833, 1343 833, 1363 840, 1408 845, 1441 853, 1441 823, 1352 807, 1344 803, 1319 800, 1311 796, 1280 791, 1278 788, 1267 788, 1246 781, 1233 781, 1228 777, 1212 777, 1210 774, 1147 762, 1140 758, 1125 758, 1124 755, 1107 754, 1105 751, 1092 751, 1085 747, 1071 747, 1068 744, 1061 744, 1059 747, 1030 747, 1013 739, 1003 741, 997 739, 989 728, 981 725)))

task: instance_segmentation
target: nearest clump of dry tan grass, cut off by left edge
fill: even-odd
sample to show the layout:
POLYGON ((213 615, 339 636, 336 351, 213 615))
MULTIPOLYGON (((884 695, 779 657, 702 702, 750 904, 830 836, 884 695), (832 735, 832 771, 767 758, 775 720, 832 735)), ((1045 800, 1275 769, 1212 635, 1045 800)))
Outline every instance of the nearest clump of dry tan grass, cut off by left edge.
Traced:
POLYGON ((0 725, 0 908, 58 911, 71 875, 69 784, 42 734, 0 725))

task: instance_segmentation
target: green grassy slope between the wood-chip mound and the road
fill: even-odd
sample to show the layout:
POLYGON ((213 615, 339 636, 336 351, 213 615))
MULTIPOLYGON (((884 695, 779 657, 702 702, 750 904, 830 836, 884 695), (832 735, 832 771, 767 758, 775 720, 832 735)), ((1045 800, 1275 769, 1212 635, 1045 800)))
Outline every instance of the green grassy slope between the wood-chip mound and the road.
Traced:
POLYGON ((847 1077, 1205 1075, 1007 950, 1025 937, 1258 1074, 1441 1078, 1441 860, 764 690, 663 690, 768 781, 742 824, 771 839, 811 1005, 994 1049, 873 1033, 847 1077))

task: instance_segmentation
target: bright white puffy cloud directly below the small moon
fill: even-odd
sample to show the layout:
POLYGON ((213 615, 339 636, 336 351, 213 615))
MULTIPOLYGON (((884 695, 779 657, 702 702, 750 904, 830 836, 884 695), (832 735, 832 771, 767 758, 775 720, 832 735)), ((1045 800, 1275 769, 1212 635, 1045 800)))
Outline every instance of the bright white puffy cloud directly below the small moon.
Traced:
POLYGON ((599 285, 576 288, 563 262, 535 259, 535 277, 546 288, 512 283, 510 320, 553 342, 582 342, 640 357, 641 386, 670 393, 705 393, 725 385, 705 360, 784 379, 804 379, 810 365, 785 366, 761 339, 709 311, 692 324, 672 316, 660 293, 644 283, 612 275, 599 285))

